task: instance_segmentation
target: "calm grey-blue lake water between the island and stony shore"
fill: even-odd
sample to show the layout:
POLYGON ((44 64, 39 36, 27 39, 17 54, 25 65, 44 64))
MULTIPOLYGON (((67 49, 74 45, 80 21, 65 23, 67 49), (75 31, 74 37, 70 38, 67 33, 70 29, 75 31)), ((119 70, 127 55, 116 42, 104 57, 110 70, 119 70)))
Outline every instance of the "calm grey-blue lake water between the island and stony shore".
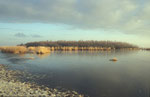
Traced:
POLYGON ((37 56, 0 53, 0 64, 43 77, 50 88, 75 90, 90 97, 149 97, 150 52, 52 52, 37 56), (34 57, 34 60, 24 59, 34 57), (117 57, 117 62, 109 59, 117 57))

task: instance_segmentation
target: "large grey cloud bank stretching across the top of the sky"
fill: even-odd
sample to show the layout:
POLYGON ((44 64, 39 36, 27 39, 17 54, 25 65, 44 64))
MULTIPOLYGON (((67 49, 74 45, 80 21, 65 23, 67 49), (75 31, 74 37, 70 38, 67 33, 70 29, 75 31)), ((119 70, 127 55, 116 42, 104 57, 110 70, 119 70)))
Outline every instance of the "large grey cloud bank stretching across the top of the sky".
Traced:
POLYGON ((148 0, 0 0, 0 21, 150 34, 148 0))

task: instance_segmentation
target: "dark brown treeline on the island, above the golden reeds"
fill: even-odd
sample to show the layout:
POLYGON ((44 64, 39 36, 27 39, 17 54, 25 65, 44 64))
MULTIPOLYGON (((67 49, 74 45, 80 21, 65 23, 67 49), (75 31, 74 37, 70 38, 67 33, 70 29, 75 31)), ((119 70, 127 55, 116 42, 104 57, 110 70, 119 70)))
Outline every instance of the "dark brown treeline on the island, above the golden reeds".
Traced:
POLYGON ((25 45, 27 47, 101 47, 111 49, 122 49, 122 48, 138 48, 138 46, 129 44, 126 42, 115 42, 115 41, 40 41, 40 42, 29 42, 25 45))

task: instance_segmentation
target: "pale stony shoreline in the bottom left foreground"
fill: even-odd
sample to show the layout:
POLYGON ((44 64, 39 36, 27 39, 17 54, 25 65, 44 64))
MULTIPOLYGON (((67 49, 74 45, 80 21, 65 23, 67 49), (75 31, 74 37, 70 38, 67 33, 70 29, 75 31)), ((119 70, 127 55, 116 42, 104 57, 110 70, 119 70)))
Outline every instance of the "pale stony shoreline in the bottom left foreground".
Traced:
POLYGON ((75 91, 59 91, 33 83, 21 82, 21 71, 8 70, 7 65, 0 64, 0 96, 44 96, 44 97, 84 97, 75 91))

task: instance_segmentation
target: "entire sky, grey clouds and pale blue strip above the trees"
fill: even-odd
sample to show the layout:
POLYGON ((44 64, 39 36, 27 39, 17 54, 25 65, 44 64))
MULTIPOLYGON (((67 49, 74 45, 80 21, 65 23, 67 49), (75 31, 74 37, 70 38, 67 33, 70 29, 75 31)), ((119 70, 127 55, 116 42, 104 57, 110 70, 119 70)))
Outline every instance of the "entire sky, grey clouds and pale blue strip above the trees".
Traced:
POLYGON ((150 47, 149 31, 150 0, 0 0, 0 46, 111 40, 150 47))

